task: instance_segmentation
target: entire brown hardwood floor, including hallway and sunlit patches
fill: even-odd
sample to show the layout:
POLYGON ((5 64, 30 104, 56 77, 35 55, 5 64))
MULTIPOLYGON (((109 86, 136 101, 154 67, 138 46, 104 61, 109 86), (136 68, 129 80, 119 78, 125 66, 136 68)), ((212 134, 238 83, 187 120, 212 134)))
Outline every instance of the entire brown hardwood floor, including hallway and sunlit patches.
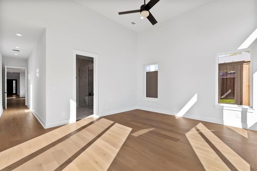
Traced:
POLYGON ((257 170, 257 131, 143 110, 43 129, 15 99, 0 118, 0 170, 257 170))

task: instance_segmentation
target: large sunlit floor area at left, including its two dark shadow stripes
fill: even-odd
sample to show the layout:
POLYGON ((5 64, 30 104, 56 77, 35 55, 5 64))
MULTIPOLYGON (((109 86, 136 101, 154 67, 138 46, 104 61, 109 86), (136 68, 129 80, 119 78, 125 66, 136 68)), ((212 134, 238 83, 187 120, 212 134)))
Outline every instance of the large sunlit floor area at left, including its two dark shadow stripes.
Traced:
POLYGON ((1 152, 0 169, 107 170, 131 128, 82 119, 1 152))

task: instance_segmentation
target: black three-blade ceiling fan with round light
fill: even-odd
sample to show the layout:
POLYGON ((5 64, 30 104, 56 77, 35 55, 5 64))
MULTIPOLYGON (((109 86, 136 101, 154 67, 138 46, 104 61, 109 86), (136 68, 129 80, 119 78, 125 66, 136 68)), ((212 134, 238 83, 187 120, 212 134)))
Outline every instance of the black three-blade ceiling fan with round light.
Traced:
POLYGON ((141 19, 146 17, 152 23, 152 25, 155 25, 157 21, 155 20, 155 18, 153 17, 153 15, 150 13, 149 10, 159 1, 160 0, 150 0, 147 4, 145 4, 145 0, 144 0, 144 4, 141 5, 140 9, 133 10, 133 11, 119 12, 119 15, 130 14, 130 13, 140 13, 141 19))

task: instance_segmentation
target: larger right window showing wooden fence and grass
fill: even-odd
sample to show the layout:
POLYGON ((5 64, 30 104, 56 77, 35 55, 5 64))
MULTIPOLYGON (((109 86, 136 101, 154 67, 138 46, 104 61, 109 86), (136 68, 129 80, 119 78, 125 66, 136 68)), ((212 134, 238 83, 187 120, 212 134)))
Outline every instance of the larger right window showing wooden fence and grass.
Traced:
POLYGON ((250 106, 250 54, 218 55, 218 103, 250 106))

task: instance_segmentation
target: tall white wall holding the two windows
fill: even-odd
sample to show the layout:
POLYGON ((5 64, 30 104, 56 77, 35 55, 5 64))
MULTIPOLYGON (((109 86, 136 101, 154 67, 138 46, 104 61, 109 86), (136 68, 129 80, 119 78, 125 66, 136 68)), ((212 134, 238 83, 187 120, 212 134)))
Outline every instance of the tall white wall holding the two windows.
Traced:
MULTIPOLYGON (((223 123, 226 111, 214 108, 216 54, 237 50, 256 29, 256 3, 211 1, 140 32, 137 38, 139 108, 175 115, 197 93, 196 103, 184 117, 223 123), (155 62, 159 64, 159 101, 151 102, 150 106, 149 101, 142 100, 143 65, 155 62)), ((231 117, 236 120, 236 115, 230 115, 233 121, 231 117)))

